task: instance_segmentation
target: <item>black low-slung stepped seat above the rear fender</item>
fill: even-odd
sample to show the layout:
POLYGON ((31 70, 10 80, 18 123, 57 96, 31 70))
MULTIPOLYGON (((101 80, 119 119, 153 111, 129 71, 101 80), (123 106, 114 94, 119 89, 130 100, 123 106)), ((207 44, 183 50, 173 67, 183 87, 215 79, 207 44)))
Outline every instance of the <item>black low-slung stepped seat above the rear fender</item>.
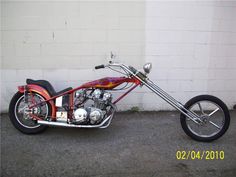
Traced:
POLYGON ((72 90, 72 87, 68 87, 64 90, 61 90, 59 92, 56 92, 55 89, 53 88, 53 86, 50 84, 50 82, 46 81, 46 80, 33 80, 33 79, 26 79, 26 83, 27 84, 35 84, 35 85, 39 85, 43 88, 45 88, 48 93, 50 94, 50 96, 56 96, 59 95, 63 92, 72 90))

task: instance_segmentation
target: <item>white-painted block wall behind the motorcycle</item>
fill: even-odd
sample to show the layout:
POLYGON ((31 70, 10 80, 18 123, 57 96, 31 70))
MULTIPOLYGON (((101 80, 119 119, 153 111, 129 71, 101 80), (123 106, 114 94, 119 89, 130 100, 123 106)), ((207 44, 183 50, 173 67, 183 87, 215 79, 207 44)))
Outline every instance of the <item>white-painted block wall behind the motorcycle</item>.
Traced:
MULTIPOLYGON (((236 104, 233 1, 1 1, 1 36, 0 111, 27 77, 59 90, 112 76, 93 69, 110 51, 138 68, 152 62, 150 77, 181 102, 209 93, 236 104)), ((138 88, 118 107, 172 109, 152 98, 138 88)))

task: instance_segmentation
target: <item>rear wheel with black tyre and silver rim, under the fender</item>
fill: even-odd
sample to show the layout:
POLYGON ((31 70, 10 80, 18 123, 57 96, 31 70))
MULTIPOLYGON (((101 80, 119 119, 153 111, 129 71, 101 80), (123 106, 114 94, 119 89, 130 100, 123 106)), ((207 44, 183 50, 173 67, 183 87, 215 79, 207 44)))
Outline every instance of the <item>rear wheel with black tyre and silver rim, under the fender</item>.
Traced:
POLYGON ((51 116, 51 106, 48 103, 44 103, 29 109, 29 106, 33 103, 39 103, 44 101, 45 98, 38 93, 27 93, 27 101, 23 93, 17 92, 9 106, 9 117, 16 129, 25 134, 36 134, 44 131, 47 126, 39 125, 37 121, 30 116, 31 114, 46 119, 51 116))

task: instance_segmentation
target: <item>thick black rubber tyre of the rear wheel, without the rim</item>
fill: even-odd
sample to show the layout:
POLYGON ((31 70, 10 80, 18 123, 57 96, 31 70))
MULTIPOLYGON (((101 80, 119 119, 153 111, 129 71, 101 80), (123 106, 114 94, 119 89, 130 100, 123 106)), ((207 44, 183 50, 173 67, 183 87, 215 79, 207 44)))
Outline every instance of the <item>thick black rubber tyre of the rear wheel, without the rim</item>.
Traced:
MULTIPOLYGON (((36 94, 36 93, 34 93, 36 94)), ((38 94, 39 95, 39 94, 38 94)), ((42 99, 45 100, 45 98, 43 98, 41 95, 39 95, 42 99)), ((22 133, 25 133, 25 134, 36 134, 36 133, 40 133, 40 132, 43 132, 47 126, 45 125, 39 125, 36 123, 36 120, 32 120, 32 119, 29 119, 28 121, 32 121, 30 123, 32 123, 33 125, 35 124, 35 126, 33 127, 29 127, 29 126, 26 126, 24 125, 22 122, 20 122, 19 118, 17 117, 17 114, 16 114, 16 106, 18 104, 18 102, 24 98, 24 94, 23 93, 20 93, 20 92, 17 92, 13 98, 11 99, 11 102, 10 102, 10 105, 9 105, 9 117, 10 117, 10 120, 13 124, 13 126, 21 131, 22 133)), ((47 116, 51 116, 51 105, 47 103, 47 116)))

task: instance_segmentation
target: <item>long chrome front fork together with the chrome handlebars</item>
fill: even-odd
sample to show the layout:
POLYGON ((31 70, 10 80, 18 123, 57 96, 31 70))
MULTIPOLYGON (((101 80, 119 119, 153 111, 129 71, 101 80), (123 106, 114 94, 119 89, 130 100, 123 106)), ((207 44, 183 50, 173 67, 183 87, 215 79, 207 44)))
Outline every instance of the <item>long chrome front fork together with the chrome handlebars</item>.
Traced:
POLYGON ((124 64, 119 64, 119 63, 113 63, 113 62, 109 62, 108 65, 105 65, 105 67, 120 67, 122 68, 124 71, 126 71, 127 73, 131 74, 132 76, 134 76, 135 78, 137 78, 143 85, 145 85, 147 88, 149 88, 151 91, 153 91, 156 95, 160 96, 163 100, 165 100, 167 103, 169 103, 171 106, 173 106, 175 109, 177 109, 178 111, 180 111, 182 114, 184 114, 185 116, 187 116, 189 119, 191 119, 193 122, 197 123, 197 124, 201 124, 202 120, 200 119, 200 117, 192 112, 189 111, 188 109, 186 109, 184 107, 184 105, 182 103, 180 103, 179 101, 177 101, 176 99, 174 99, 172 96, 170 96, 167 92, 165 92, 164 90, 162 90, 160 87, 158 87, 155 83, 153 83, 147 76, 145 79, 142 79, 140 77, 138 77, 138 73, 139 71, 137 71, 136 73, 133 73, 128 66, 124 65, 124 64))

